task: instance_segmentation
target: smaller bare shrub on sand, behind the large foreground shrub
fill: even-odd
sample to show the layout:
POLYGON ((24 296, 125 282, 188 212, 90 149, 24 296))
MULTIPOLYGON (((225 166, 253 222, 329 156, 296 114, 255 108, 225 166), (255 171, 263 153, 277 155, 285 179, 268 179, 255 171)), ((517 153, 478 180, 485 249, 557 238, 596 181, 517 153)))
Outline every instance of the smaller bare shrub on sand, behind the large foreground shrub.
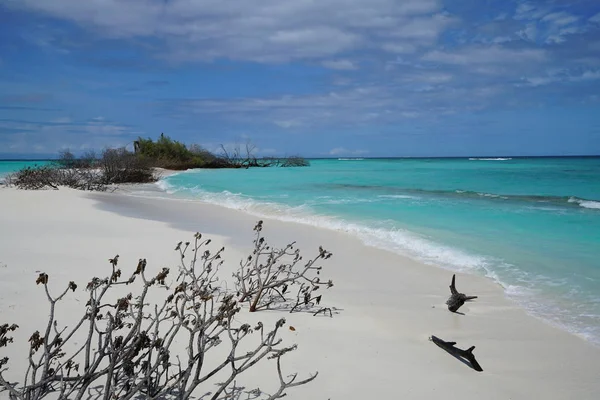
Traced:
POLYGON ((254 250, 240 262, 233 275, 240 302, 247 302, 251 312, 274 305, 288 307, 290 312, 320 305, 321 295, 315 297, 315 292, 322 286, 332 287, 333 282, 321 280, 319 275, 323 267, 316 263, 330 258, 332 253, 319 247, 314 258, 303 262, 295 243, 282 249, 269 246, 262 235, 262 225, 263 222, 258 221, 254 227, 254 250), (290 298, 290 289, 294 286, 298 286, 298 293, 295 298, 290 298))

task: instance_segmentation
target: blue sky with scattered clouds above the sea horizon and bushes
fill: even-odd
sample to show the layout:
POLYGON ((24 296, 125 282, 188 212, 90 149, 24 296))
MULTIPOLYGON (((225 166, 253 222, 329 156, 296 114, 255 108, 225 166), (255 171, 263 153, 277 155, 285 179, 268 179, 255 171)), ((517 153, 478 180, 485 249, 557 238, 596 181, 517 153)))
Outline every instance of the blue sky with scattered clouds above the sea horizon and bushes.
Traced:
POLYGON ((600 1, 0 0, 0 157, 600 154, 600 1))

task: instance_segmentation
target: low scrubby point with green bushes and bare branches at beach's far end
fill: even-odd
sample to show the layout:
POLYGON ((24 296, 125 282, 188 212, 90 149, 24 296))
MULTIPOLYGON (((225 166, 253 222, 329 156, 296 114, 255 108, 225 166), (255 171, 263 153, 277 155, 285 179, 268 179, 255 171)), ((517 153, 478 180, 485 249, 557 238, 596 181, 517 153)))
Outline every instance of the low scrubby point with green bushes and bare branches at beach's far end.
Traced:
POLYGON ((139 137, 133 142, 133 152, 125 147, 107 148, 100 154, 88 151, 76 157, 70 150, 59 152, 50 164, 25 167, 5 182, 20 189, 56 189, 66 186, 82 190, 104 191, 107 185, 150 183, 160 178, 159 169, 183 171, 195 168, 265 168, 306 167, 303 157, 257 157, 256 146, 250 142, 227 149, 221 154, 202 146, 186 145, 161 133, 158 140, 139 137))

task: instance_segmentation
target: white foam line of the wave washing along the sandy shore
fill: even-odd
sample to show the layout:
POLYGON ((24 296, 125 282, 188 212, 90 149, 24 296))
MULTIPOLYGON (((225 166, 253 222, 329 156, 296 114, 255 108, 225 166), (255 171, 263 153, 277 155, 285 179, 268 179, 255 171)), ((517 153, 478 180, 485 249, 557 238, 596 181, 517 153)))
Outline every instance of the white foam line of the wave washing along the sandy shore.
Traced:
POLYGON ((600 337, 589 333, 590 329, 593 328, 579 326, 577 321, 571 320, 571 318, 557 319, 557 314, 568 316, 568 312, 561 309, 558 305, 552 305, 548 302, 539 304, 536 300, 536 289, 503 282, 496 271, 498 268, 509 270, 512 275, 517 274, 517 276, 520 276, 519 274, 521 274, 522 276, 520 276, 520 278, 524 282, 533 285, 533 283, 530 282, 530 279, 527 279, 527 274, 525 272, 519 271, 516 267, 502 263, 499 260, 491 260, 484 256, 469 254, 456 248, 438 244, 424 236, 402 229, 389 230, 370 228, 361 224, 344 221, 343 219, 318 215, 309 207, 305 206, 290 207, 277 203, 259 203, 253 201, 249 197, 242 197, 239 194, 227 191, 222 193, 211 193, 203 191, 199 187, 176 190, 164 180, 159 181, 157 185, 169 194, 181 194, 182 192, 187 192, 195 196, 193 198, 188 198, 188 201, 201 201, 215 204, 230 209, 244 211, 261 218, 273 218, 284 222, 295 222, 338 232, 346 232, 359 238, 368 246, 408 256, 428 265, 456 272, 480 273, 502 286, 505 295, 515 301, 529 314, 560 329, 582 337, 596 345, 600 345, 600 337), (551 310, 548 311, 549 309, 551 310), (565 322, 565 320, 568 320, 568 322, 565 322))

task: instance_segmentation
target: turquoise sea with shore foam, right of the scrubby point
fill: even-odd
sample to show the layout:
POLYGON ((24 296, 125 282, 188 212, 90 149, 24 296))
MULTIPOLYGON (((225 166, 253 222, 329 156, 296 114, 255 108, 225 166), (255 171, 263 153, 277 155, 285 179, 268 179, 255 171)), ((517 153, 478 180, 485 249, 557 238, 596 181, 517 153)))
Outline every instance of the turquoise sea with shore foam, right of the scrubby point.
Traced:
POLYGON ((600 344, 600 158, 313 160, 159 185, 488 276, 532 314, 600 344))

